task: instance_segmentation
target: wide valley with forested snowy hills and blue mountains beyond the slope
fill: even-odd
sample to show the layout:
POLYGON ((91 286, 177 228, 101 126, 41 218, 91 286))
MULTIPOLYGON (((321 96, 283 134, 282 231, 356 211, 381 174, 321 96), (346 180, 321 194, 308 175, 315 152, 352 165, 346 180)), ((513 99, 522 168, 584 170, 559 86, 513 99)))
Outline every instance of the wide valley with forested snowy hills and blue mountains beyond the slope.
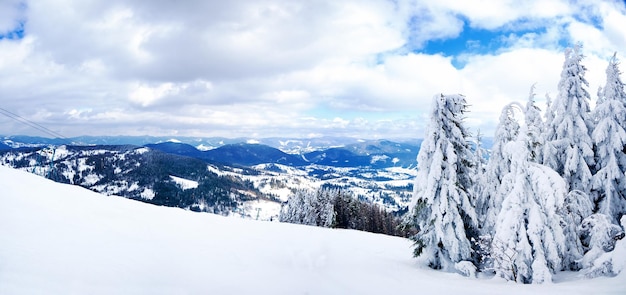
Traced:
POLYGON ((337 138, 264 140, 282 149, 258 140, 227 143, 221 138, 88 139, 68 139, 63 144, 5 137, 0 164, 104 195, 276 220, 281 204, 295 190, 320 187, 346 190, 359 200, 401 214, 411 199, 419 150, 419 141, 337 138), (157 142, 136 145, 146 140, 157 142), (102 144, 106 142, 116 144, 102 144))

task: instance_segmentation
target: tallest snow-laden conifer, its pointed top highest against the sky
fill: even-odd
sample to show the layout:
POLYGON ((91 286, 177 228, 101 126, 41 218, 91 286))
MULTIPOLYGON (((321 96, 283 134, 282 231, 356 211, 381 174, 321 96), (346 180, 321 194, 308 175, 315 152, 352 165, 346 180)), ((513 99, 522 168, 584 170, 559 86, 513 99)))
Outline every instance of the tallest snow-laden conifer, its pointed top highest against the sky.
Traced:
POLYGON ((552 105, 554 118, 546 122, 544 164, 559 173, 568 190, 589 193, 594 165, 591 130, 593 121, 586 87, 586 68, 581 64, 581 45, 565 51, 558 96, 552 105))

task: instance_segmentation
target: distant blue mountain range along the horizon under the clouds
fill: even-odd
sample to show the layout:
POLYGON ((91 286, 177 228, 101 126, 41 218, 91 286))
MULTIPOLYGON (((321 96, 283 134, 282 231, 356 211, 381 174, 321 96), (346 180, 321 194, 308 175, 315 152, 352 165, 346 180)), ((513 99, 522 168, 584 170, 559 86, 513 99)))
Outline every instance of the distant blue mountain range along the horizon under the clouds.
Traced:
POLYGON ((166 153, 227 165, 252 166, 264 163, 333 167, 415 167, 421 140, 389 141, 323 137, 313 139, 267 138, 166 138, 132 136, 81 136, 49 139, 5 136, 0 150, 9 147, 59 145, 135 145, 166 153))

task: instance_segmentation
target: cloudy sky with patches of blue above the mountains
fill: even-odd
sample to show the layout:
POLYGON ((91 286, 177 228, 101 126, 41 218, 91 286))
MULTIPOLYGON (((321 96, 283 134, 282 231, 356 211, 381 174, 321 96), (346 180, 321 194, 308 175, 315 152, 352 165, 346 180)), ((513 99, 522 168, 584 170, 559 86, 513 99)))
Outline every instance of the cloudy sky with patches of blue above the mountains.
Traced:
POLYGON ((418 138, 461 93, 492 136, 534 83, 556 96, 577 42, 595 99, 624 1, 0 0, 0 108, 66 137, 418 138))

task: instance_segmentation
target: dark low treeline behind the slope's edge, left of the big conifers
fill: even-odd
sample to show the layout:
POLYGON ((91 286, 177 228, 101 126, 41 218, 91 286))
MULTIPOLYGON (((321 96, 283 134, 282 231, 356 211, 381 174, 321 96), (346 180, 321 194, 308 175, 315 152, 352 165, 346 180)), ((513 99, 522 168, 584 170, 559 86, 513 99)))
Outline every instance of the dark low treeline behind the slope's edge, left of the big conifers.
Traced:
POLYGON ((281 222, 330 228, 356 229, 406 237, 401 220, 377 204, 363 202, 336 188, 297 190, 283 205, 281 222))

